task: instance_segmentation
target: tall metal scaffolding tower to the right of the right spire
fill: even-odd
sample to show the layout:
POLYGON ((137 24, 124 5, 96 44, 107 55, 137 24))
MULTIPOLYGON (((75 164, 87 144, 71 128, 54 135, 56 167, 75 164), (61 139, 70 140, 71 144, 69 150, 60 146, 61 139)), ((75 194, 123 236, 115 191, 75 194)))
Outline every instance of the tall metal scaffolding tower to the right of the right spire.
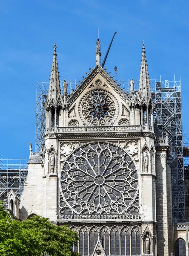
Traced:
POLYGON ((172 173, 172 213, 174 222, 185 221, 184 164, 181 89, 179 81, 155 79, 155 118, 160 131, 168 135, 172 173))

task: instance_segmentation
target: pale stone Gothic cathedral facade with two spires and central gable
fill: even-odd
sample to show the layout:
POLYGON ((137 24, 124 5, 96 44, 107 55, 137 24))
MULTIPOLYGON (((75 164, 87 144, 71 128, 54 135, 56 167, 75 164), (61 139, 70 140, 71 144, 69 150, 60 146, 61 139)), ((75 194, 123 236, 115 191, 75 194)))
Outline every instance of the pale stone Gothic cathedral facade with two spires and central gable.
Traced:
MULTIPOLYGON (((171 171, 167 138, 153 123, 145 44, 139 88, 126 94, 100 66, 72 94, 60 91, 54 45, 42 153, 30 148, 20 219, 69 224, 82 256, 170 256, 173 251, 171 171)), ((139 67, 138 67, 139 69, 139 67)))

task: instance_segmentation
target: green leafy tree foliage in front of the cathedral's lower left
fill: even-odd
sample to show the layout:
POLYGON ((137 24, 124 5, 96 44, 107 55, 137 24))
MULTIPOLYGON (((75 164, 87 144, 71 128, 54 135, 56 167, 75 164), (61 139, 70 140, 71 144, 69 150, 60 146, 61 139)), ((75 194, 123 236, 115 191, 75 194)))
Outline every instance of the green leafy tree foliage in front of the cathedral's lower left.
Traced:
POLYGON ((78 256, 71 249, 77 241, 77 233, 66 225, 53 225, 41 216, 13 220, 0 204, 1 256, 78 256))

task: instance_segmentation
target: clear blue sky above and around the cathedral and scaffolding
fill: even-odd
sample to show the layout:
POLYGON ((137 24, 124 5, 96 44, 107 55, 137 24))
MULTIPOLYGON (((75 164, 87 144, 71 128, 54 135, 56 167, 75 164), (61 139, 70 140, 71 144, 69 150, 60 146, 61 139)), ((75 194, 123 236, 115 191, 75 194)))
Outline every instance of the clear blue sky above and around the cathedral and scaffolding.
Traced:
MULTIPOLYGON (((139 79, 142 41, 151 78, 181 75, 183 130, 189 131, 187 0, 0 1, 0 154, 29 157, 35 142, 36 82, 49 81, 54 42, 60 79, 82 79, 117 31, 117 74, 139 79)), ((106 67, 114 74, 115 41, 106 67)))

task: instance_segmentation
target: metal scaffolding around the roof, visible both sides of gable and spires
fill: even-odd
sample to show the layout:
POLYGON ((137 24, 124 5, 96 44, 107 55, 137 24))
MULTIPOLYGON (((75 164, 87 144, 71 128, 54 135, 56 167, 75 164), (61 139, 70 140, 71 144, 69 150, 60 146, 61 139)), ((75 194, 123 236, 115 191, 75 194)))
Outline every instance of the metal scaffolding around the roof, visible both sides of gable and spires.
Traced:
MULTIPOLYGON (((117 81, 117 85, 130 93, 130 81, 117 81)), ((67 81, 68 93, 71 95, 80 85, 80 81, 67 81)), ((168 135, 170 157, 168 164, 172 170, 172 211, 175 222, 185 220, 184 206, 184 171, 183 171, 183 133, 181 114, 181 89, 179 81, 162 81, 150 79, 152 97, 155 100, 154 119, 163 135, 168 135)), ((135 91, 138 90, 139 81, 135 80, 135 91)), ((48 95, 49 83, 37 82, 36 104, 36 139, 35 151, 40 152, 44 145, 45 134, 45 110, 44 104, 48 95)), ((63 93, 63 81, 60 81, 60 89, 63 93)))

